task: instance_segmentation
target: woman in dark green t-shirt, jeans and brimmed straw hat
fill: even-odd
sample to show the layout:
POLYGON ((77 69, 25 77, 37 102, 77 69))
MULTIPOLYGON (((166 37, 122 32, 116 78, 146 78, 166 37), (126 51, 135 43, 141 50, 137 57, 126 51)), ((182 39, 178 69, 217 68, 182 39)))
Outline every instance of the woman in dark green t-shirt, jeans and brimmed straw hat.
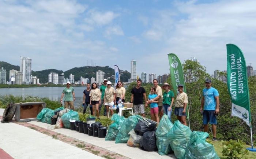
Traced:
POLYGON ((171 114, 172 114, 172 106, 174 101, 174 93, 170 90, 171 86, 169 86, 168 83, 163 84, 162 86, 163 90, 165 92, 163 93, 163 112, 168 116, 169 120, 171 120, 171 114))

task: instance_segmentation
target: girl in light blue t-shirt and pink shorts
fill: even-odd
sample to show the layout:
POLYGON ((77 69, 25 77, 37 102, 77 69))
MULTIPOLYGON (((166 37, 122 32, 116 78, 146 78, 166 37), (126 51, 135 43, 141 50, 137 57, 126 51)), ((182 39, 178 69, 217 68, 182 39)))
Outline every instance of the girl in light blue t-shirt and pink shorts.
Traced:
POLYGON ((155 100, 157 98, 157 94, 155 91, 155 87, 150 88, 150 94, 148 95, 147 103, 150 104, 150 114, 151 114, 151 120, 154 120, 155 122, 159 123, 159 117, 158 117, 158 101, 155 100))

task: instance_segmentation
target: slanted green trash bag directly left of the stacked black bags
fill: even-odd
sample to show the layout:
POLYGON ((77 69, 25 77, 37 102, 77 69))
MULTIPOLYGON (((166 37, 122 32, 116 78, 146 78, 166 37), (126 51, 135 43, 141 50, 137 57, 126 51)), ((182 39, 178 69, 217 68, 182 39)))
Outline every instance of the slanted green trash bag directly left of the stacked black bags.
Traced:
POLYGON ((140 118, 139 115, 132 115, 125 119, 116 136, 116 143, 127 143, 130 137, 128 133, 135 128, 136 124, 139 122, 138 118, 140 118))

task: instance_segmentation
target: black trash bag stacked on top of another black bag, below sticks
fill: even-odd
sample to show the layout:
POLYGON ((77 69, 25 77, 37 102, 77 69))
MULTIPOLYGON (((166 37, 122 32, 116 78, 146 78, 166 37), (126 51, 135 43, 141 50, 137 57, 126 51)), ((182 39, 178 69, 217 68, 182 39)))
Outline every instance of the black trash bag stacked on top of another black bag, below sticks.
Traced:
POLYGON ((155 127, 157 127, 157 124, 150 122, 150 120, 148 120, 148 123, 149 124, 145 124, 144 122, 139 120, 134 128, 136 134, 142 136, 145 132, 153 131, 155 127))

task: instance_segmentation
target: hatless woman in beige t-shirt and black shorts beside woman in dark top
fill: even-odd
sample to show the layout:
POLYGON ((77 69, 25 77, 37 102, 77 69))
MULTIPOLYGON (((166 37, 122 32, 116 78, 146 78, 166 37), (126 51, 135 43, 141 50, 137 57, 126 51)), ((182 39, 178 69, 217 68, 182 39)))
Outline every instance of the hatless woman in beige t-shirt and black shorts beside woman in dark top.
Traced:
POLYGON ((97 112, 97 117, 99 119, 99 104, 101 104, 101 91, 99 90, 96 83, 91 85, 91 91, 89 96, 90 98, 90 105, 93 106, 93 115, 95 116, 95 107, 97 112))

